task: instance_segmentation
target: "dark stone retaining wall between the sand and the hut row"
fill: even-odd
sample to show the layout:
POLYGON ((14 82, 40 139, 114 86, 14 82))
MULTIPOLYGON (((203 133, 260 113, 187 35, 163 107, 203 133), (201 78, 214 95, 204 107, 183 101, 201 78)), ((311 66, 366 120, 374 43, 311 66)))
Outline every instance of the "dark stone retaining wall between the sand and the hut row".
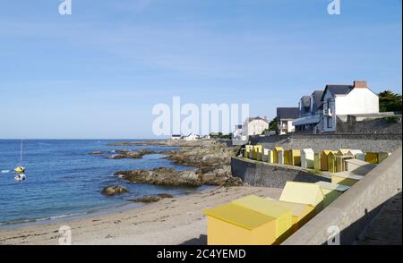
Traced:
POLYGON ((231 159, 231 169, 233 176, 252 186, 284 188, 287 181, 330 182, 328 178, 311 174, 300 167, 271 165, 239 157, 231 159))

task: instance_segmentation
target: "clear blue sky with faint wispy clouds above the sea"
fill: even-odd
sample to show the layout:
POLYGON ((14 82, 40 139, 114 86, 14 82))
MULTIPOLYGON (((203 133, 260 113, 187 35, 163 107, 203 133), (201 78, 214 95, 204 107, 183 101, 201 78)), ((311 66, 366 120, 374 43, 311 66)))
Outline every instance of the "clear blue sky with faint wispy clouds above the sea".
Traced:
POLYGON ((152 107, 277 106, 326 83, 401 92, 401 1, 58 0, 0 5, 0 138, 152 138, 152 107))

